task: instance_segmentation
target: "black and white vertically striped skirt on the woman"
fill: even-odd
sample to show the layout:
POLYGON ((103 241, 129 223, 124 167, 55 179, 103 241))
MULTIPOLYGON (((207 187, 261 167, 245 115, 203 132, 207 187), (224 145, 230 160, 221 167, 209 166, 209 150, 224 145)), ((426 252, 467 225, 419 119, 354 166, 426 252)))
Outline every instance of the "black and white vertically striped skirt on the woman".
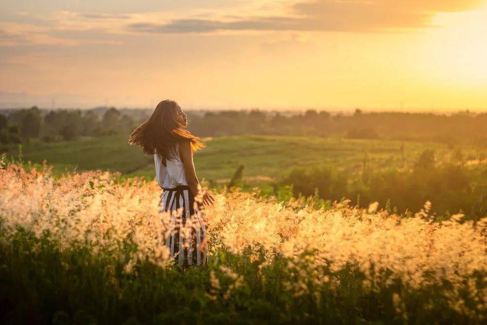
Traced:
POLYGON ((159 203, 160 212, 169 212, 169 235, 166 247, 170 257, 183 266, 208 263, 206 227, 203 211, 198 208, 187 185, 164 188, 159 203))

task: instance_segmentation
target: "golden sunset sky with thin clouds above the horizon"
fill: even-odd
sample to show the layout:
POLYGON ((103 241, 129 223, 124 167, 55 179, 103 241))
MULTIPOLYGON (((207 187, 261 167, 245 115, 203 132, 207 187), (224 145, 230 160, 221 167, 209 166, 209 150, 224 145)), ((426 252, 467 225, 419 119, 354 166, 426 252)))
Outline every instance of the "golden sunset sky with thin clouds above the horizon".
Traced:
POLYGON ((0 107, 487 111, 486 0, 0 0, 0 107))

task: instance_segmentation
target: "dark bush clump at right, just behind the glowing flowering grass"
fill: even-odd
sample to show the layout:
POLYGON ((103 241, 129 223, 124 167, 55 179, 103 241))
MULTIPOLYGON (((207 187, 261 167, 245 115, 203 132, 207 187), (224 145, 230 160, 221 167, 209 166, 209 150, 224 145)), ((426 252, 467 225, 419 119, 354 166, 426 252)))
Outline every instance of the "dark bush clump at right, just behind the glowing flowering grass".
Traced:
POLYGON ((483 210, 474 209, 475 202, 485 194, 480 187, 473 191, 475 179, 465 167, 452 164, 434 167, 433 163, 431 152, 426 152, 414 170, 369 171, 365 178, 319 166, 297 167, 281 183, 292 185, 295 196, 313 195, 318 190, 323 199, 349 197, 361 207, 377 201, 382 207, 389 202, 392 209, 399 211, 419 210, 424 202, 431 201, 432 212, 439 215, 463 211, 474 219, 487 216, 485 212, 479 214, 483 210))

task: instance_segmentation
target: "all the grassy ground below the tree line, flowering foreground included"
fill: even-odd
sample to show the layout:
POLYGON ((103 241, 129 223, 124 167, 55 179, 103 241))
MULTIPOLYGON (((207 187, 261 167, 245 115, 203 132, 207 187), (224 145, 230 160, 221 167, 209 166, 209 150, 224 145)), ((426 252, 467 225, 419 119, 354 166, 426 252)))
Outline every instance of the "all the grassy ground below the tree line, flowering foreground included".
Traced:
POLYGON ((16 161, 45 159, 55 174, 10 159, 0 169, 0 323, 485 323, 485 148, 340 137, 205 142, 194 157, 200 179, 220 187, 244 165, 244 190, 266 191, 214 191, 209 265, 184 271, 165 257, 166 229, 153 226, 162 224, 156 185, 58 177, 100 169, 153 179, 153 158, 127 137, 32 141, 20 155, 0 147, 16 161), (314 189, 319 197, 308 196, 314 189))

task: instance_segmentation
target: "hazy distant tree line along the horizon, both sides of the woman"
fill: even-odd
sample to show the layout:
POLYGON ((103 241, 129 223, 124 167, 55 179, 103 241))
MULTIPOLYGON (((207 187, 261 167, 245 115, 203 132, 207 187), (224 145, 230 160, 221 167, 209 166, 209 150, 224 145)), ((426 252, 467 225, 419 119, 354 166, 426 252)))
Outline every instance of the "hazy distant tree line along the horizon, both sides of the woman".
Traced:
MULTIPOLYGON (((42 111, 37 107, 0 114, 0 143, 41 138, 71 140, 80 135, 130 134, 152 110, 106 109, 42 111)), ((433 113, 372 112, 353 115, 306 110, 301 113, 187 111, 189 130, 202 137, 225 135, 339 134, 351 139, 395 139, 469 143, 487 146, 487 113, 468 111, 433 113)))

